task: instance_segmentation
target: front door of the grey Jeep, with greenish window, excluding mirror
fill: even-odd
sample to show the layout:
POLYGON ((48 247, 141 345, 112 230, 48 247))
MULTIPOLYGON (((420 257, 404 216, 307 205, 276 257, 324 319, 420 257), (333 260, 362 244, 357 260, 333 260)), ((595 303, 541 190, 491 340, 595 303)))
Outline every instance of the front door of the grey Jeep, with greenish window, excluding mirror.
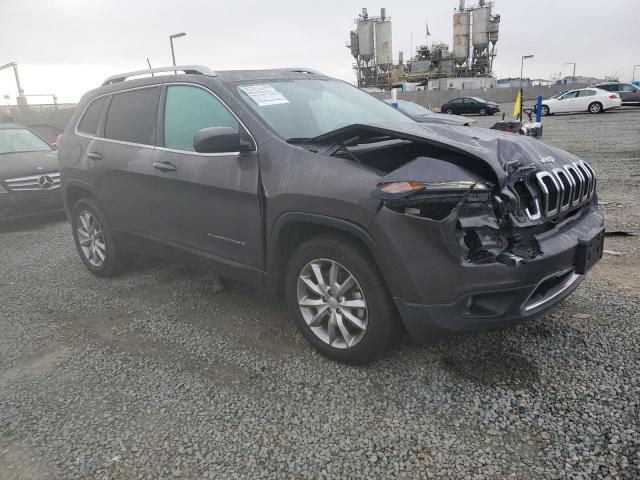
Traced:
POLYGON ((257 152, 193 148, 203 128, 232 127, 249 137, 244 126, 216 95, 193 84, 165 87, 159 124, 154 191, 166 241, 220 264, 262 270, 257 152))

